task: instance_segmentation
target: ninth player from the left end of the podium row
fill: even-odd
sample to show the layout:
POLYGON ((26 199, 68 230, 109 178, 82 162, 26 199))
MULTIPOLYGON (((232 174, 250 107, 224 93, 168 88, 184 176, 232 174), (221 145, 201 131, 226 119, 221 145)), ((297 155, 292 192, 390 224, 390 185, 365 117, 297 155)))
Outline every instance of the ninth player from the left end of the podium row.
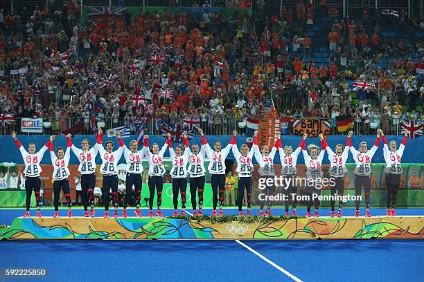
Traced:
POLYGON ((220 214, 224 216, 222 207, 224 206, 224 188, 225 188, 225 159, 227 158, 229 151, 231 150, 231 144, 222 149, 220 141, 216 141, 213 144, 213 150, 209 146, 206 138, 204 137, 202 129, 199 130, 202 135, 202 147, 206 151, 206 156, 209 158, 209 173, 211 173, 211 186, 212 186, 212 204, 213 212, 211 216, 216 216, 216 205, 218 203, 218 192, 220 196, 220 214), (219 189, 219 190, 218 190, 219 189))

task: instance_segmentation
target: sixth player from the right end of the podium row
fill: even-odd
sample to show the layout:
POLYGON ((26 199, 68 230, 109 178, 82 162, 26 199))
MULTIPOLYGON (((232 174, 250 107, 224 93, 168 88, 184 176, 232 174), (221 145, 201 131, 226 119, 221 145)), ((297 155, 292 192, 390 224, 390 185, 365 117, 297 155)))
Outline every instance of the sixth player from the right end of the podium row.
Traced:
MULTIPOLYGON (((254 133, 254 144, 252 147, 252 150, 255 152, 255 158, 256 161, 259 164, 259 174, 260 174, 260 180, 259 183, 262 182, 262 185, 266 185, 265 191, 265 197, 266 196, 274 196, 275 194, 275 169, 274 169, 274 156, 276 151, 279 149, 279 144, 281 144, 281 140, 277 139, 274 147, 272 147, 272 150, 270 151, 270 147, 268 145, 263 145, 262 148, 258 147, 258 131, 255 131, 254 133), (272 179, 272 185, 267 185, 267 180, 272 179)), ((259 216, 263 216, 263 208, 265 207, 265 201, 260 200, 259 205, 259 216)), ((265 216, 271 216, 271 207, 272 207, 272 200, 267 201, 267 210, 265 212, 265 216)))

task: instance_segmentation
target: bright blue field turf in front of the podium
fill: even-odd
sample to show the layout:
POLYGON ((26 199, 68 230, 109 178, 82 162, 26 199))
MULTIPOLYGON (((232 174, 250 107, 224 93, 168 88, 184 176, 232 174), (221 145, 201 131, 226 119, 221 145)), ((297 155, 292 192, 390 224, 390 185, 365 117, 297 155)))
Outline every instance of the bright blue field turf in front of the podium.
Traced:
MULTIPOLYGON (((423 281, 423 240, 243 243, 301 281, 423 281)), ((236 241, 1 241, 0 249, 2 272, 47 272, 17 281, 293 281, 236 241)))

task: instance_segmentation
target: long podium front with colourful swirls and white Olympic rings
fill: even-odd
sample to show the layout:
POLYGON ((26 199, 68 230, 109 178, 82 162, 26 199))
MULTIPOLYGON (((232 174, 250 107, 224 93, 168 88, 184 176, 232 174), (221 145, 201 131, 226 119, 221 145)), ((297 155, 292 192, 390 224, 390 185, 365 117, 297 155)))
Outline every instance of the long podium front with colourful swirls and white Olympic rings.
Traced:
POLYGON ((21 239, 369 239, 424 238, 424 216, 344 218, 16 218, 0 238, 21 239))

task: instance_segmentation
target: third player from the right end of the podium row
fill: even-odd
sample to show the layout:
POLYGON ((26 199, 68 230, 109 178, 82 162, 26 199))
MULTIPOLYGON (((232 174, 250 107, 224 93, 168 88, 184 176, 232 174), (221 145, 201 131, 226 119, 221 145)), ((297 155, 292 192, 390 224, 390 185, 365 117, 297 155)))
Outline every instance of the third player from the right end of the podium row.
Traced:
MULTIPOLYGON (((328 172, 330 173, 330 180, 332 180, 330 181, 331 196, 338 195, 340 197, 343 197, 344 176, 347 173, 346 161, 348 159, 349 148, 351 147, 351 133, 348 133, 346 146, 343 147, 342 144, 337 144, 335 147, 335 153, 328 146, 325 139, 323 139, 323 143, 324 143, 324 147, 326 147, 328 160, 330 161, 330 169, 328 169, 328 172)), ((330 205, 331 205, 330 217, 334 217, 335 200, 330 200, 330 205)), ((343 200, 340 199, 339 211, 337 212, 337 217, 342 217, 342 207, 343 207, 343 200)))

